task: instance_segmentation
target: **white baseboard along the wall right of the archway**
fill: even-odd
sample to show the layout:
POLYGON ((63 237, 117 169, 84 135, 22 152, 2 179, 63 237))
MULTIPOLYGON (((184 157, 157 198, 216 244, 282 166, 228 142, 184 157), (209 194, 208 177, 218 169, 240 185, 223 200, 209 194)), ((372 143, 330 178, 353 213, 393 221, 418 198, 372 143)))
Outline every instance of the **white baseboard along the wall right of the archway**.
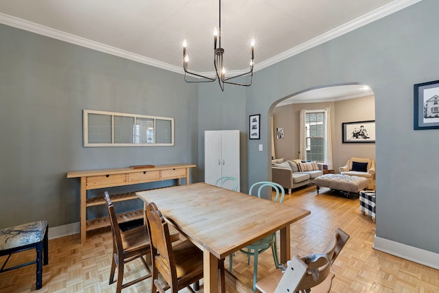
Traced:
POLYGON ((373 248, 439 270, 439 254, 375 235, 373 248))

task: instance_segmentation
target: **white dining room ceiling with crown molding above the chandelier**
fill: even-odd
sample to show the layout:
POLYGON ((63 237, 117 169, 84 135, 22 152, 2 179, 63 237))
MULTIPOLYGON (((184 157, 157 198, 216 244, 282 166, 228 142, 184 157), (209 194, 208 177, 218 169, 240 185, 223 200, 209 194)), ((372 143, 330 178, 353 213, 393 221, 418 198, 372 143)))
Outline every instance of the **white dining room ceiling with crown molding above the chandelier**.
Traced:
MULTIPOLYGON (((254 70, 420 0, 222 0, 222 47, 228 72, 244 71, 250 39, 254 70)), ((182 73, 213 69, 217 0, 0 0, 0 23, 182 73)), ((4 40, 2 40, 4 41, 4 40)))

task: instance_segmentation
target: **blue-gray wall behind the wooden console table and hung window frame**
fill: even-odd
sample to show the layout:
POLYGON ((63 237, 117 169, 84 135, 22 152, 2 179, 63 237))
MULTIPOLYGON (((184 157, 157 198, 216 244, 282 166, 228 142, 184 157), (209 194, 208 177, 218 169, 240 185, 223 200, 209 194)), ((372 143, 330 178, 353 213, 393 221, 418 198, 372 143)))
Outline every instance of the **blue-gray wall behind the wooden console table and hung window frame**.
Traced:
POLYGON ((79 180, 67 179, 68 171, 198 163, 198 86, 188 86, 180 74, 5 25, 0 39, 1 227, 40 219, 51 227, 78 222, 79 180), (83 109, 174 117, 176 144, 84 148, 83 109))

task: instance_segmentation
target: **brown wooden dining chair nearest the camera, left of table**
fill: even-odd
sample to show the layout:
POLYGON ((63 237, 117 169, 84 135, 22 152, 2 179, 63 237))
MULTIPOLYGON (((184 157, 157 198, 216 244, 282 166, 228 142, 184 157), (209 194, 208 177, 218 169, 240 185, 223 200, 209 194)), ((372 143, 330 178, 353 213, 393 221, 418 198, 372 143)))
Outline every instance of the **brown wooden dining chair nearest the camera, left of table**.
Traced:
MULTIPOLYGON (((187 288, 195 293, 191 284, 195 284, 203 278, 203 253, 189 240, 171 244, 169 237, 169 226, 161 211, 154 202, 146 206, 147 228, 151 235, 151 257, 152 257, 152 289, 151 292, 165 293, 169 288, 171 292, 178 292, 187 288), (158 274, 163 277, 158 277, 158 274)), ((225 290, 224 260, 219 261, 221 270, 221 290, 225 290), (222 264, 221 264, 222 263, 222 264)))

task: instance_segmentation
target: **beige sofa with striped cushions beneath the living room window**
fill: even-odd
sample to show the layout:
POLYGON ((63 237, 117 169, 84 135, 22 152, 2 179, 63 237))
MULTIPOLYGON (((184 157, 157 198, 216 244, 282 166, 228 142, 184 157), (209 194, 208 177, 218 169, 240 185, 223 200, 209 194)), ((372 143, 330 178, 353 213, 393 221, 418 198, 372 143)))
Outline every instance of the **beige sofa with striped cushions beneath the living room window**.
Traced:
POLYGON ((314 178, 322 174, 322 165, 316 162, 272 160, 272 181, 288 189, 288 194, 291 194, 292 189, 296 187, 313 183, 314 178))

